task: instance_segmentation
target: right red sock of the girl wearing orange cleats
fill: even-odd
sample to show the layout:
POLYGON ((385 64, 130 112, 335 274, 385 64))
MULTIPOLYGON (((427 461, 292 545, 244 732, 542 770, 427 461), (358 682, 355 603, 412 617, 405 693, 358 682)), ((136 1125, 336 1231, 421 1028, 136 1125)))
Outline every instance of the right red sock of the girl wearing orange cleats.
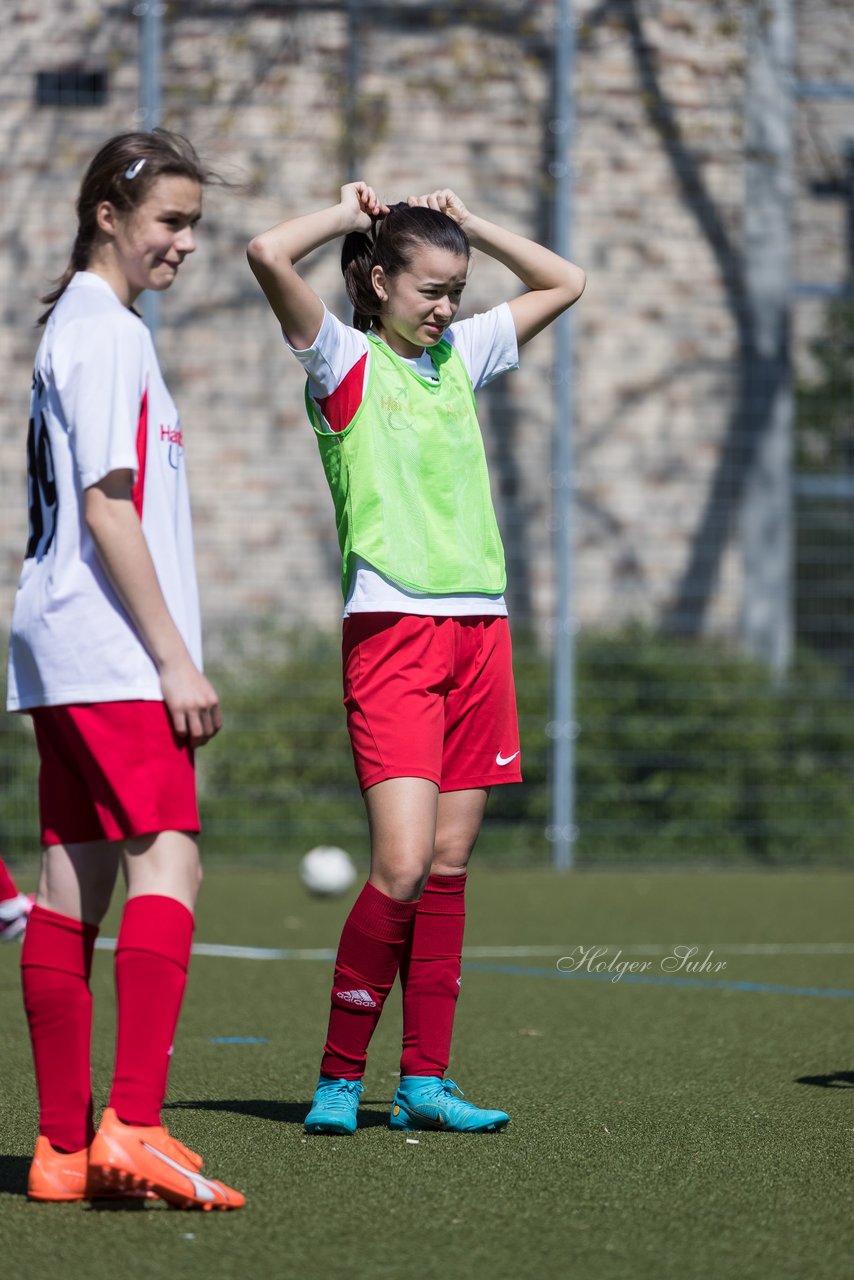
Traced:
POLYGON ((159 1125, 187 983, 193 916, 174 897, 132 897, 115 946, 118 1027, 110 1106, 125 1124, 159 1125))

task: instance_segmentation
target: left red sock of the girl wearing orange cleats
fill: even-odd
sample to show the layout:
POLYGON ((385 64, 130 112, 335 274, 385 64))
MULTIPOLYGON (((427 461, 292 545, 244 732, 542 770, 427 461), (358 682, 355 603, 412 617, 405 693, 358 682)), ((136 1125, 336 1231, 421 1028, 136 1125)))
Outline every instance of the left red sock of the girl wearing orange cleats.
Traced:
POLYGON ((38 1132, 59 1151, 88 1147, 92 1129, 92 948, 96 924, 33 906, 20 951, 38 1132))

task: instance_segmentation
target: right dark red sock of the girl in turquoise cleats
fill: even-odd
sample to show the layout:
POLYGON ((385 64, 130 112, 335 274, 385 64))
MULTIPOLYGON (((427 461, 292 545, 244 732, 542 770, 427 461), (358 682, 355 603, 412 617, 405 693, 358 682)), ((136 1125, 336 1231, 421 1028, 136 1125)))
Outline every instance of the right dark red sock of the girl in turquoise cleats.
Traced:
POLYGON ((429 876, 401 960, 401 1075, 444 1075, 460 996, 466 876, 429 876))

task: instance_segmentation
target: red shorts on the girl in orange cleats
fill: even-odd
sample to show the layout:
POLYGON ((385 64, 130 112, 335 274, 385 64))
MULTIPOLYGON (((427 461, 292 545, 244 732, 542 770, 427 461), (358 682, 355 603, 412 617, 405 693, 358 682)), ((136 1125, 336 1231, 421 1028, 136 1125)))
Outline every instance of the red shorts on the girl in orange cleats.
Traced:
POLYGON ((193 750, 164 703, 87 703, 31 712, 45 845, 197 832, 193 750))

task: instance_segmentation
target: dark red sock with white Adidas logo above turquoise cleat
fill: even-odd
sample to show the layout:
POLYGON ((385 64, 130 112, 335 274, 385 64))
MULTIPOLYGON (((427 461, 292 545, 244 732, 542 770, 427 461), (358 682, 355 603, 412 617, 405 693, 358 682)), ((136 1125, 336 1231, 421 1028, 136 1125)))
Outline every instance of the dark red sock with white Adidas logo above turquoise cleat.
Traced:
POLYGON ((367 1046, 394 986, 416 908, 370 882, 353 902, 335 957, 323 1075, 359 1080, 365 1074, 367 1046))

